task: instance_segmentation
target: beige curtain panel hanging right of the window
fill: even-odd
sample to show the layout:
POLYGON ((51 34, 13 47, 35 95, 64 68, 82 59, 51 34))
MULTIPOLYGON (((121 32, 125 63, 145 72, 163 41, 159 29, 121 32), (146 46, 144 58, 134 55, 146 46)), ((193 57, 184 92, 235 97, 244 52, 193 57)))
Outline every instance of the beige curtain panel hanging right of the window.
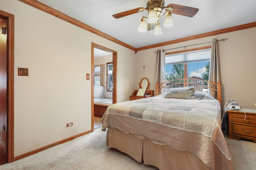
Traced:
MULTIPOLYGON (((210 70, 209 70, 209 82, 214 82, 218 84, 220 82, 220 57, 218 53, 218 40, 214 38, 212 40, 212 53, 210 59, 210 70)), ((216 89, 216 87, 212 87, 216 89)), ((210 94, 212 94, 215 98, 217 93, 213 90, 210 90, 210 94)))

